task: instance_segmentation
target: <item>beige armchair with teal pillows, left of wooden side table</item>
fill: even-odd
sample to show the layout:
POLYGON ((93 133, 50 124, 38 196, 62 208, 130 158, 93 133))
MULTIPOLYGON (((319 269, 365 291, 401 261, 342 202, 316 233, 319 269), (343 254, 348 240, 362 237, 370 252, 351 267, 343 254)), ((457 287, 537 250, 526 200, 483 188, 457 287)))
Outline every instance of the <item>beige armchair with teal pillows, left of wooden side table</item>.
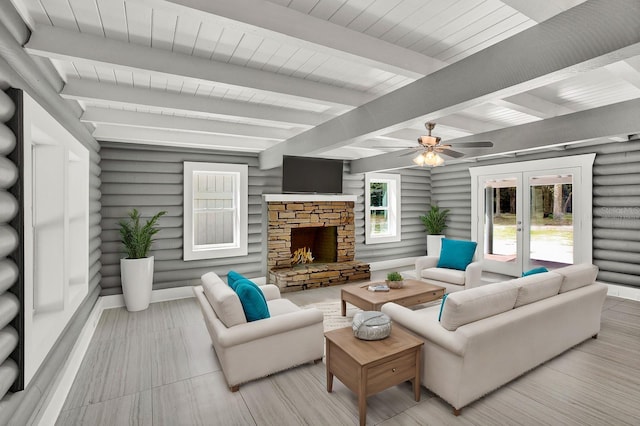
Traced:
POLYGON ((323 314, 280 298, 277 286, 260 286, 270 318, 247 322, 238 295, 215 273, 193 288, 231 391, 248 382, 324 354, 323 314))

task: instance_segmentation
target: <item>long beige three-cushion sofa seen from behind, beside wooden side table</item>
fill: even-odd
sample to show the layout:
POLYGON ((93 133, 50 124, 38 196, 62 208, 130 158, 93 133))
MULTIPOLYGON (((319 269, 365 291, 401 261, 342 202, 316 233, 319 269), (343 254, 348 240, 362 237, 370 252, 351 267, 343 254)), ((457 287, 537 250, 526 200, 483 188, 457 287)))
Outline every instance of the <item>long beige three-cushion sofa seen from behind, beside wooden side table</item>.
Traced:
POLYGON ((419 310, 387 303, 393 323, 422 337, 422 384, 454 414, 574 345, 596 337, 607 286, 572 265, 448 295, 419 310))

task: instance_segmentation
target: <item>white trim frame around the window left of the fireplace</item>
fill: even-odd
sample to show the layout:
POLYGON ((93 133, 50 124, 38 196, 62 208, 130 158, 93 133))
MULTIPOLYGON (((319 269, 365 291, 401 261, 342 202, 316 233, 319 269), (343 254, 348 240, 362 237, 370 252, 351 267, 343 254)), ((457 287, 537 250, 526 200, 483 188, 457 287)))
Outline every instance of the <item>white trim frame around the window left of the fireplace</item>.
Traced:
POLYGON ((217 259, 222 257, 246 256, 248 253, 248 193, 249 166, 246 164, 184 162, 184 211, 183 211, 183 259, 217 259), (194 172, 236 173, 238 178, 238 229, 235 230, 236 244, 219 244, 203 249, 194 249, 193 241, 193 174, 194 172))

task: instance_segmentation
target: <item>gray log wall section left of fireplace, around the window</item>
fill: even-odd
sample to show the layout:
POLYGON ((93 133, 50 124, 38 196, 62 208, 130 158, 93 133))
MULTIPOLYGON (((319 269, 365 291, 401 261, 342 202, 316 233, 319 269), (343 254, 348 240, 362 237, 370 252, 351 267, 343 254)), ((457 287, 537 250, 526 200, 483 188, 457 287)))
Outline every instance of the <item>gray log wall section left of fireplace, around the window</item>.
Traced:
POLYGON ((124 257, 118 221, 132 208, 144 218, 160 210, 160 232, 151 255, 155 256, 153 288, 191 286, 209 271, 224 276, 230 269, 247 277, 262 271, 262 194, 279 193, 280 169, 260 170, 256 154, 151 147, 104 142, 102 150, 102 292, 122 293, 120 258, 124 257), (222 259, 182 260, 182 204, 184 161, 249 165, 248 255, 222 259))

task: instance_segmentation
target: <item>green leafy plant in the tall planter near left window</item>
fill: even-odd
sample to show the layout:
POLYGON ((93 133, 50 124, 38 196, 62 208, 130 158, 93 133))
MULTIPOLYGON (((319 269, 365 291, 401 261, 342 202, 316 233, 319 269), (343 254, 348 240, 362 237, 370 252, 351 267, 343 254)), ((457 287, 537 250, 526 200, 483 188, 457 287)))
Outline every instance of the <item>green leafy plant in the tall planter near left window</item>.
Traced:
POLYGON ((120 220, 120 239, 128 259, 142 259, 148 256, 154 241, 153 236, 160 230, 157 226, 158 219, 166 213, 164 210, 158 212, 142 225, 140 213, 133 209, 128 213, 128 219, 120 220))

